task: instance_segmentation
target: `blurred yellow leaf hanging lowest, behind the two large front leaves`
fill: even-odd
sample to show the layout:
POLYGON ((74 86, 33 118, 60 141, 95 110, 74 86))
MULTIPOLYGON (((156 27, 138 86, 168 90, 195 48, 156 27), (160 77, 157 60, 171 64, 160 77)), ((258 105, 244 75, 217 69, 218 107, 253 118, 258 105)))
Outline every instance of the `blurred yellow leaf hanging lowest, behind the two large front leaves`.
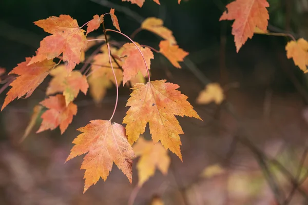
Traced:
POLYGON ((137 143, 132 147, 136 156, 140 156, 137 162, 138 186, 141 187, 149 177, 159 169, 164 175, 167 174, 170 165, 170 157, 167 150, 160 144, 153 144, 153 141, 139 137, 137 143))

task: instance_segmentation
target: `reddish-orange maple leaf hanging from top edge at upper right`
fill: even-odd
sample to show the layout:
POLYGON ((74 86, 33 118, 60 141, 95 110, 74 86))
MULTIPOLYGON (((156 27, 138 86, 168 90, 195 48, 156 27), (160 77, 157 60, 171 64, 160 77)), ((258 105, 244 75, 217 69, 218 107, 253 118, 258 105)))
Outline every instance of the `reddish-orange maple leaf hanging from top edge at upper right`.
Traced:
POLYGON ((219 20, 235 20, 232 34, 237 52, 253 37, 256 27, 266 32, 269 19, 266 7, 269 7, 266 0, 236 0, 226 6, 228 11, 223 12, 219 20))

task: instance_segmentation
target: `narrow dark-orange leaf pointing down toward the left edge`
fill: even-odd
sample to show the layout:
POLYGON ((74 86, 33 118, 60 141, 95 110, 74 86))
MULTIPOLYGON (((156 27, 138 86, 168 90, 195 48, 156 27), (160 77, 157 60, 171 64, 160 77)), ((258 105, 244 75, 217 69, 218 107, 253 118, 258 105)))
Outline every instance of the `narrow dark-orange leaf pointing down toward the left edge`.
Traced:
POLYGON ((55 66, 52 60, 44 60, 27 66, 30 60, 31 58, 27 57, 26 61, 17 64, 17 66, 9 72, 9 74, 17 74, 19 76, 10 84, 12 88, 7 93, 1 110, 15 98, 19 99, 24 95, 26 95, 25 98, 30 97, 37 86, 39 86, 48 75, 49 71, 55 66))

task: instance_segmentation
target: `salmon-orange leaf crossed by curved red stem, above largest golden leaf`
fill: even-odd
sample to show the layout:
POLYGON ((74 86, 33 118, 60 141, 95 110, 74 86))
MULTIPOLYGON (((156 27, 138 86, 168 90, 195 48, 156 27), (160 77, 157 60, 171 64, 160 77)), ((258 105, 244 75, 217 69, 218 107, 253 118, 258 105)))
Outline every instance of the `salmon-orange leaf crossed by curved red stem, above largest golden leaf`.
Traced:
MULTIPOLYGON (((136 42, 135 42, 136 43, 136 42)), ((152 51, 149 48, 143 48, 138 43, 136 43, 138 48, 143 54, 146 64, 150 69, 151 59, 154 58, 152 51)), ((120 52, 120 51, 119 51, 120 52)), ((121 51, 122 56, 127 56, 124 58, 123 69, 123 85, 132 77, 136 76, 140 71, 143 76, 147 76, 146 66, 142 55, 133 43, 126 43, 123 45, 123 50, 121 51)))

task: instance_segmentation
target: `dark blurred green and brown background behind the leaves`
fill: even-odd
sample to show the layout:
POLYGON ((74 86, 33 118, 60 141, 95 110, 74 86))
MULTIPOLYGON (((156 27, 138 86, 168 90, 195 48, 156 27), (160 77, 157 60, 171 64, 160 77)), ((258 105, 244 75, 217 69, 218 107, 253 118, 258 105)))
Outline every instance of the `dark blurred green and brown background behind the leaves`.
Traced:
MULTIPOLYGON (((284 47, 291 39, 255 34, 236 53, 231 35, 233 21, 219 22, 230 1, 182 0, 180 5, 177 0, 160 2, 159 6, 146 0, 139 8, 120 0, 0 0, 0 67, 10 71, 25 57, 35 54, 40 41, 48 35, 33 24, 38 19, 68 14, 83 25, 93 15, 107 13, 112 7, 121 31, 130 35, 146 17, 161 18, 189 55, 179 70, 155 54, 151 79, 179 84, 179 90, 189 97, 204 122, 179 117, 185 132, 181 136, 183 162, 169 153, 172 162, 168 175, 157 171, 139 190, 134 204, 149 204, 155 195, 165 204, 283 204, 276 203, 277 198, 287 202, 284 204, 304 204, 308 189, 305 180, 301 179, 302 192, 292 193, 294 183, 290 176, 285 177, 268 161, 264 168, 249 146, 234 142, 244 127, 251 133, 244 136, 249 143, 281 162, 296 180, 300 180, 298 170, 305 173, 308 84, 306 75, 286 58, 284 47), (199 92, 211 81, 227 90, 228 103, 241 120, 229 112, 229 104, 195 103, 199 92), (226 172, 200 177, 204 169, 216 164, 226 172), (269 171, 269 178, 264 176, 264 169, 265 173, 269 171), (276 186, 271 183, 271 176, 276 186), (294 197, 289 197, 290 192, 294 197)), ((269 31, 307 39, 307 0, 268 2, 269 31)), ((113 28, 109 17, 105 18, 105 25, 113 28)), ((101 29, 89 36, 100 34, 101 29)), ((110 35, 113 40, 125 40, 120 35, 110 35)), ((148 31, 141 31, 134 40, 157 49, 160 42, 159 37, 148 31)), ((80 65, 76 69, 79 68, 80 65)), ((136 165, 132 185, 114 166, 106 182, 100 180, 82 194, 82 157, 64 164, 71 141, 79 134, 75 130, 91 119, 111 115, 115 89, 108 91, 100 107, 94 106, 90 96, 80 94, 75 100, 78 114, 63 135, 58 128, 35 134, 38 121, 30 135, 18 143, 33 107, 44 98, 49 79, 30 98, 14 100, 0 113, 0 204, 127 204, 138 181, 136 165)), ((1 93, 1 101, 8 90, 1 93)), ((114 117, 118 123, 127 111, 129 90, 122 87, 120 93, 114 117)), ((149 136, 148 131, 145 135, 149 136)))

